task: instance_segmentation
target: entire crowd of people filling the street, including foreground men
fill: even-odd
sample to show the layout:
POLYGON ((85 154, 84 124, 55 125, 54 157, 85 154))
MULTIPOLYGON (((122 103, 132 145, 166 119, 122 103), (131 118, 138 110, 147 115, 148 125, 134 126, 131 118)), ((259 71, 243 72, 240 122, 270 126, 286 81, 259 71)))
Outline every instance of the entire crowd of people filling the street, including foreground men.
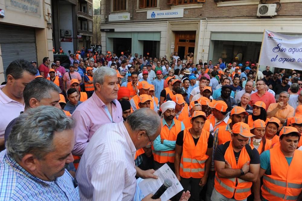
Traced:
MULTIPOLYGON (((62 53, 62 52, 61 52, 62 53)), ((0 86, 0 200, 302 200, 302 80, 258 63, 107 51, 15 60, 0 86), (80 56, 80 57, 79 57, 80 56)))

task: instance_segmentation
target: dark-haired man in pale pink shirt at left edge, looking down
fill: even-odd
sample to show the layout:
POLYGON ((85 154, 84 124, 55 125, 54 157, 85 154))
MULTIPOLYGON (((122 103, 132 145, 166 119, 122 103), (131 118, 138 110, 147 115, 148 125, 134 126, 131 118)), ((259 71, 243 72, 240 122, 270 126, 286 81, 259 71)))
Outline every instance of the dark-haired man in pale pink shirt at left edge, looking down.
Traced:
POLYGON ((6 126, 24 111, 23 90, 35 79, 37 69, 26 60, 14 60, 6 69, 7 83, 0 86, 0 151, 4 149, 6 126))

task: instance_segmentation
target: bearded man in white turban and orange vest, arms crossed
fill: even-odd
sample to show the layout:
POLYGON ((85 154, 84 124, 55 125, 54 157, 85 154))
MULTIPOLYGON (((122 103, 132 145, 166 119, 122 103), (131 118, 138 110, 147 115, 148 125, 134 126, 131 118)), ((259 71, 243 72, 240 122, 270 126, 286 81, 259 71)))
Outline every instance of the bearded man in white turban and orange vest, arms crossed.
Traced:
POLYGON ((175 105, 174 101, 167 101, 160 106, 163 114, 162 129, 152 145, 155 170, 167 163, 174 172, 175 141, 178 133, 185 129, 182 122, 174 119, 175 105))

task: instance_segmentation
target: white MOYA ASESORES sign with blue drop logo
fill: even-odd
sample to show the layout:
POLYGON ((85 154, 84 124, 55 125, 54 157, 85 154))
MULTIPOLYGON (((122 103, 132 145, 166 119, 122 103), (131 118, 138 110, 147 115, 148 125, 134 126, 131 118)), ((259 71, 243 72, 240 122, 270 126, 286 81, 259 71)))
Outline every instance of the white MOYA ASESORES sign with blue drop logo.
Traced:
POLYGON ((182 18, 184 17, 184 9, 172 9, 161 11, 147 11, 147 19, 161 19, 161 18, 182 18))

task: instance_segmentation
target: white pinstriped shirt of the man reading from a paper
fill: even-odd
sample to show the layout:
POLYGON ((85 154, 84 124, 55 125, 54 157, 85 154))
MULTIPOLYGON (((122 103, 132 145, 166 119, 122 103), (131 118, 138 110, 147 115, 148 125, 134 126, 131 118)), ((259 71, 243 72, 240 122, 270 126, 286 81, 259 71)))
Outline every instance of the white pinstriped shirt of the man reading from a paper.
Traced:
POLYGON ((135 153, 123 122, 101 126, 76 172, 81 201, 131 201, 136 188, 135 153))

